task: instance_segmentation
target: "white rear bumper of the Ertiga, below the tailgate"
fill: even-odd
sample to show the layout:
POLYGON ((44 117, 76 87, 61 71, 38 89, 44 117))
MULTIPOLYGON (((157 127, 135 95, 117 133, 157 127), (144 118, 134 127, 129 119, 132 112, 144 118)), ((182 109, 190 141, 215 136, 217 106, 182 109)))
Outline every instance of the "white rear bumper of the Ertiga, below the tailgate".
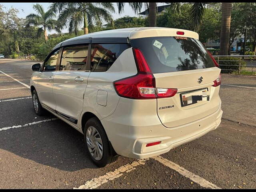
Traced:
POLYGON ((148 126, 120 124, 111 117, 101 121, 117 154, 143 159, 166 153, 215 130, 221 122, 222 113, 220 105, 213 114, 174 128, 166 128, 159 120, 158 123, 148 126), (161 143, 146 147, 147 143, 156 141, 161 143))

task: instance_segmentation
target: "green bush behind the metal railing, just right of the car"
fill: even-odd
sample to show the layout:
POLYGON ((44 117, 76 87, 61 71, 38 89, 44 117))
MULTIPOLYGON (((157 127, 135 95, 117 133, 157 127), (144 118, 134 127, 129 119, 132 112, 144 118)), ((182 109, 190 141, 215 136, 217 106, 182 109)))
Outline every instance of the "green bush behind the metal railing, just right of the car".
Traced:
MULTIPOLYGON (((217 61, 218 58, 216 58, 217 61)), ((221 68, 222 73, 232 73, 232 72, 238 72, 239 70, 239 63, 241 65, 241 68, 246 66, 246 63, 244 61, 240 61, 240 58, 235 57, 220 57, 219 58, 219 65, 221 68)))

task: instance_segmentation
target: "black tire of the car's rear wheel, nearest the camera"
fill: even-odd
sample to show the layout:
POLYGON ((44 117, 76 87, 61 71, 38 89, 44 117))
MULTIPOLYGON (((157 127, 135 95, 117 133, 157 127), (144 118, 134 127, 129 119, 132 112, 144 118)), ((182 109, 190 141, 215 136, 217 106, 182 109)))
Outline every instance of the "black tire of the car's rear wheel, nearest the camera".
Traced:
POLYGON ((90 158, 92 159, 92 162, 94 162, 96 166, 98 167, 110 166, 111 164, 116 162, 116 160, 118 159, 118 155, 112 156, 110 152, 108 137, 104 131, 102 124, 96 117, 90 118, 84 126, 84 142, 86 146, 86 151, 89 154, 90 158), (95 132, 94 129, 96 129, 98 133, 95 132), (102 141, 101 142, 102 145, 100 144, 100 139, 102 141), (94 146, 94 150, 92 150, 93 146, 94 146), (100 153, 101 146, 102 146, 102 153, 100 153), (94 154, 95 156, 93 156, 92 154, 94 154))

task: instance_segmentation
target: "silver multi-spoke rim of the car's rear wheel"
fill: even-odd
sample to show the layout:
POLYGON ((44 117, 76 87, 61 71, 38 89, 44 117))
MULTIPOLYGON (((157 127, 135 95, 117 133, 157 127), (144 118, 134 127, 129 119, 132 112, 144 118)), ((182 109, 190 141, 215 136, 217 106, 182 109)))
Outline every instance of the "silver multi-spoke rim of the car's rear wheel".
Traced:
POLYGON ((86 143, 92 157, 99 161, 103 156, 103 144, 98 130, 90 126, 86 131, 86 143))

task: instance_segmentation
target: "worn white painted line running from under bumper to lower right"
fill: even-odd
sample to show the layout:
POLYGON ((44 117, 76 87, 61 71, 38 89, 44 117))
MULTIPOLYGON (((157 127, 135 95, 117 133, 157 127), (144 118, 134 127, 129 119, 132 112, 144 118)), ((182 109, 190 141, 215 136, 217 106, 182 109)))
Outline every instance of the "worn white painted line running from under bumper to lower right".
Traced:
POLYGON ((168 159, 165 159, 161 156, 154 157, 154 159, 157 160, 158 162, 164 164, 165 166, 177 171, 179 174, 185 176, 186 178, 191 179, 192 181, 194 181, 195 183, 199 184, 202 187, 211 188, 211 189, 221 189, 218 186, 214 185, 213 183, 205 180, 204 178, 202 178, 192 172, 189 172, 185 168, 179 166, 178 164, 176 164, 168 159))

